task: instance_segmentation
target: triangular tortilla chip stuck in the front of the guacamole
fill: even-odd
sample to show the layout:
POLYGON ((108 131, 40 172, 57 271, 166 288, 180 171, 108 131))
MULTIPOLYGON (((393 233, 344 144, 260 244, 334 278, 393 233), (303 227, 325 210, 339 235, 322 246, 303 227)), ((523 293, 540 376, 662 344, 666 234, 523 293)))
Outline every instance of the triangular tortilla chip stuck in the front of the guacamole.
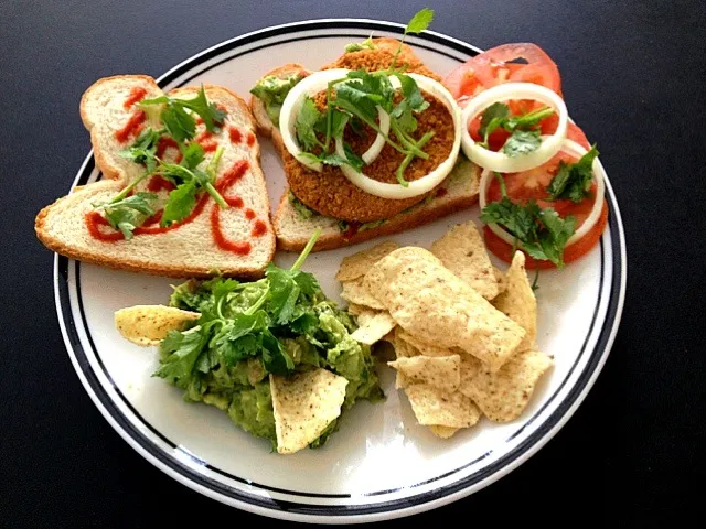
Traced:
POLYGON ((319 439, 341 414, 347 384, 319 367, 289 378, 270 374, 277 452, 292 454, 319 439))

